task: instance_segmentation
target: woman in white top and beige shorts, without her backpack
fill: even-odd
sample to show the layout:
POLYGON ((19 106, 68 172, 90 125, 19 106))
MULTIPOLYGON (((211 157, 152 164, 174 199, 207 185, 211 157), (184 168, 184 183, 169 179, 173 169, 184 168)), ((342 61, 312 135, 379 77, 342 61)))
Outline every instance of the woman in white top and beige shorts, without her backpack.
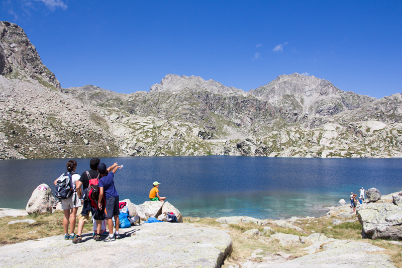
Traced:
MULTIPOLYGON (((75 231, 75 216, 77 215, 78 207, 81 206, 81 202, 79 200, 75 182, 79 180, 79 175, 75 173, 77 169, 77 162, 75 160, 68 160, 67 164, 67 172, 61 174, 64 176, 65 174, 71 175, 70 187, 72 189, 72 195, 66 199, 61 200, 61 209, 63 209, 64 217, 63 217, 63 229, 64 229, 64 240, 72 240, 76 237, 75 231), (68 234, 68 221, 70 221, 70 234, 68 234)), ((60 176, 60 177, 61 177, 60 176)), ((54 181, 54 185, 57 185, 58 177, 54 181)))

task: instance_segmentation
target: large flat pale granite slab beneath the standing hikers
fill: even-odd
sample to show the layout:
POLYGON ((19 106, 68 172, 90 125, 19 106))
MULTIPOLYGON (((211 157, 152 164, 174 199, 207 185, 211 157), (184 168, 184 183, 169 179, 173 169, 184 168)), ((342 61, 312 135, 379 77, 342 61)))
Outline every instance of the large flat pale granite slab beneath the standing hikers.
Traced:
POLYGON ((96 242, 91 233, 73 244, 63 235, 0 246, 6 267, 220 267, 232 248, 226 232, 178 223, 142 223, 122 238, 96 242), (77 255, 78 254, 78 255, 77 255), (95 261, 102 260, 95 264, 95 261))

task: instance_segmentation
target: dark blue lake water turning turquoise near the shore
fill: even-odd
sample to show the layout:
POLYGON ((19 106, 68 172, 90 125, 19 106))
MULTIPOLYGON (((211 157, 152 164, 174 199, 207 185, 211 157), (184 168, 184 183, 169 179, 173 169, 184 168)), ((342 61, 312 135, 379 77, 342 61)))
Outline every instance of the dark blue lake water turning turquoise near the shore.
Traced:
MULTIPOLYGON (((90 158, 75 159, 77 173, 90 158)), ((68 159, 0 161, 0 207, 25 208, 32 191, 65 171, 68 159)), ((402 190, 402 159, 321 159, 235 156, 102 158, 116 172, 120 199, 148 201, 152 182, 183 216, 256 218, 320 216, 350 192, 375 187, 382 194, 402 190)))

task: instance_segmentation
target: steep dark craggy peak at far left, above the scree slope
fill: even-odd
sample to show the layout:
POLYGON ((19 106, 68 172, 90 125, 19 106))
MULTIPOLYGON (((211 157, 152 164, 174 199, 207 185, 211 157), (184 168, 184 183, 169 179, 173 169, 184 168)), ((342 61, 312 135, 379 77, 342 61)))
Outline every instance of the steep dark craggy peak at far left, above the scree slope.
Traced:
POLYGON ((43 65, 35 46, 16 24, 0 21, 0 74, 13 78, 27 75, 47 87, 61 89, 60 82, 43 65))

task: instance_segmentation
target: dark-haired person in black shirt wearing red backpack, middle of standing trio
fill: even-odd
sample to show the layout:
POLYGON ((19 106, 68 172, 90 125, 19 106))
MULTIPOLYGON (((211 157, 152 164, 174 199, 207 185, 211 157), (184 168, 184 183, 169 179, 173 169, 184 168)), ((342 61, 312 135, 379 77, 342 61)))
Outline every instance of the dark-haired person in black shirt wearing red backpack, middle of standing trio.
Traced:
MULTIPOLYGON (((88 199, 88 188, 89 188, 89 182, 94 180, 95 183, 97 184, 97 180, 100 178, 99 172, 97 171, 97 166, 100 162, 99 158, 92 158, 89 162, 89 167, 91 168, 88 171, 84 171, 78 181, 76 181, 76 189, 77 189, 77 194, 79 198, 81 198, 81 203, 82 205, 82 212, 78 215, 78 231, 77 231, 77 237, 72 240, 74 244, 82 242, 81 234, 82 230, 84 228, 85 222, 89 220, 89 213, 92 214, 96 211, 97 204, 93 206, 91 204, 91 201, 88 199), (81 186, 83 185, 84 191, 82 191, 81 186), (85 192, 85 195, 84 195, 85 192)), ((102 219, 101 220, 96 220, 96 224, 100 225, 102 224, 102 219)), ((100 230, 100 228, 99 228, 100 230)), ((93 238, 96 240, 100 240, 100 236, 97 237, 99 234, 99 230, 96 232, 95 235, 93 235, 93 238)))

